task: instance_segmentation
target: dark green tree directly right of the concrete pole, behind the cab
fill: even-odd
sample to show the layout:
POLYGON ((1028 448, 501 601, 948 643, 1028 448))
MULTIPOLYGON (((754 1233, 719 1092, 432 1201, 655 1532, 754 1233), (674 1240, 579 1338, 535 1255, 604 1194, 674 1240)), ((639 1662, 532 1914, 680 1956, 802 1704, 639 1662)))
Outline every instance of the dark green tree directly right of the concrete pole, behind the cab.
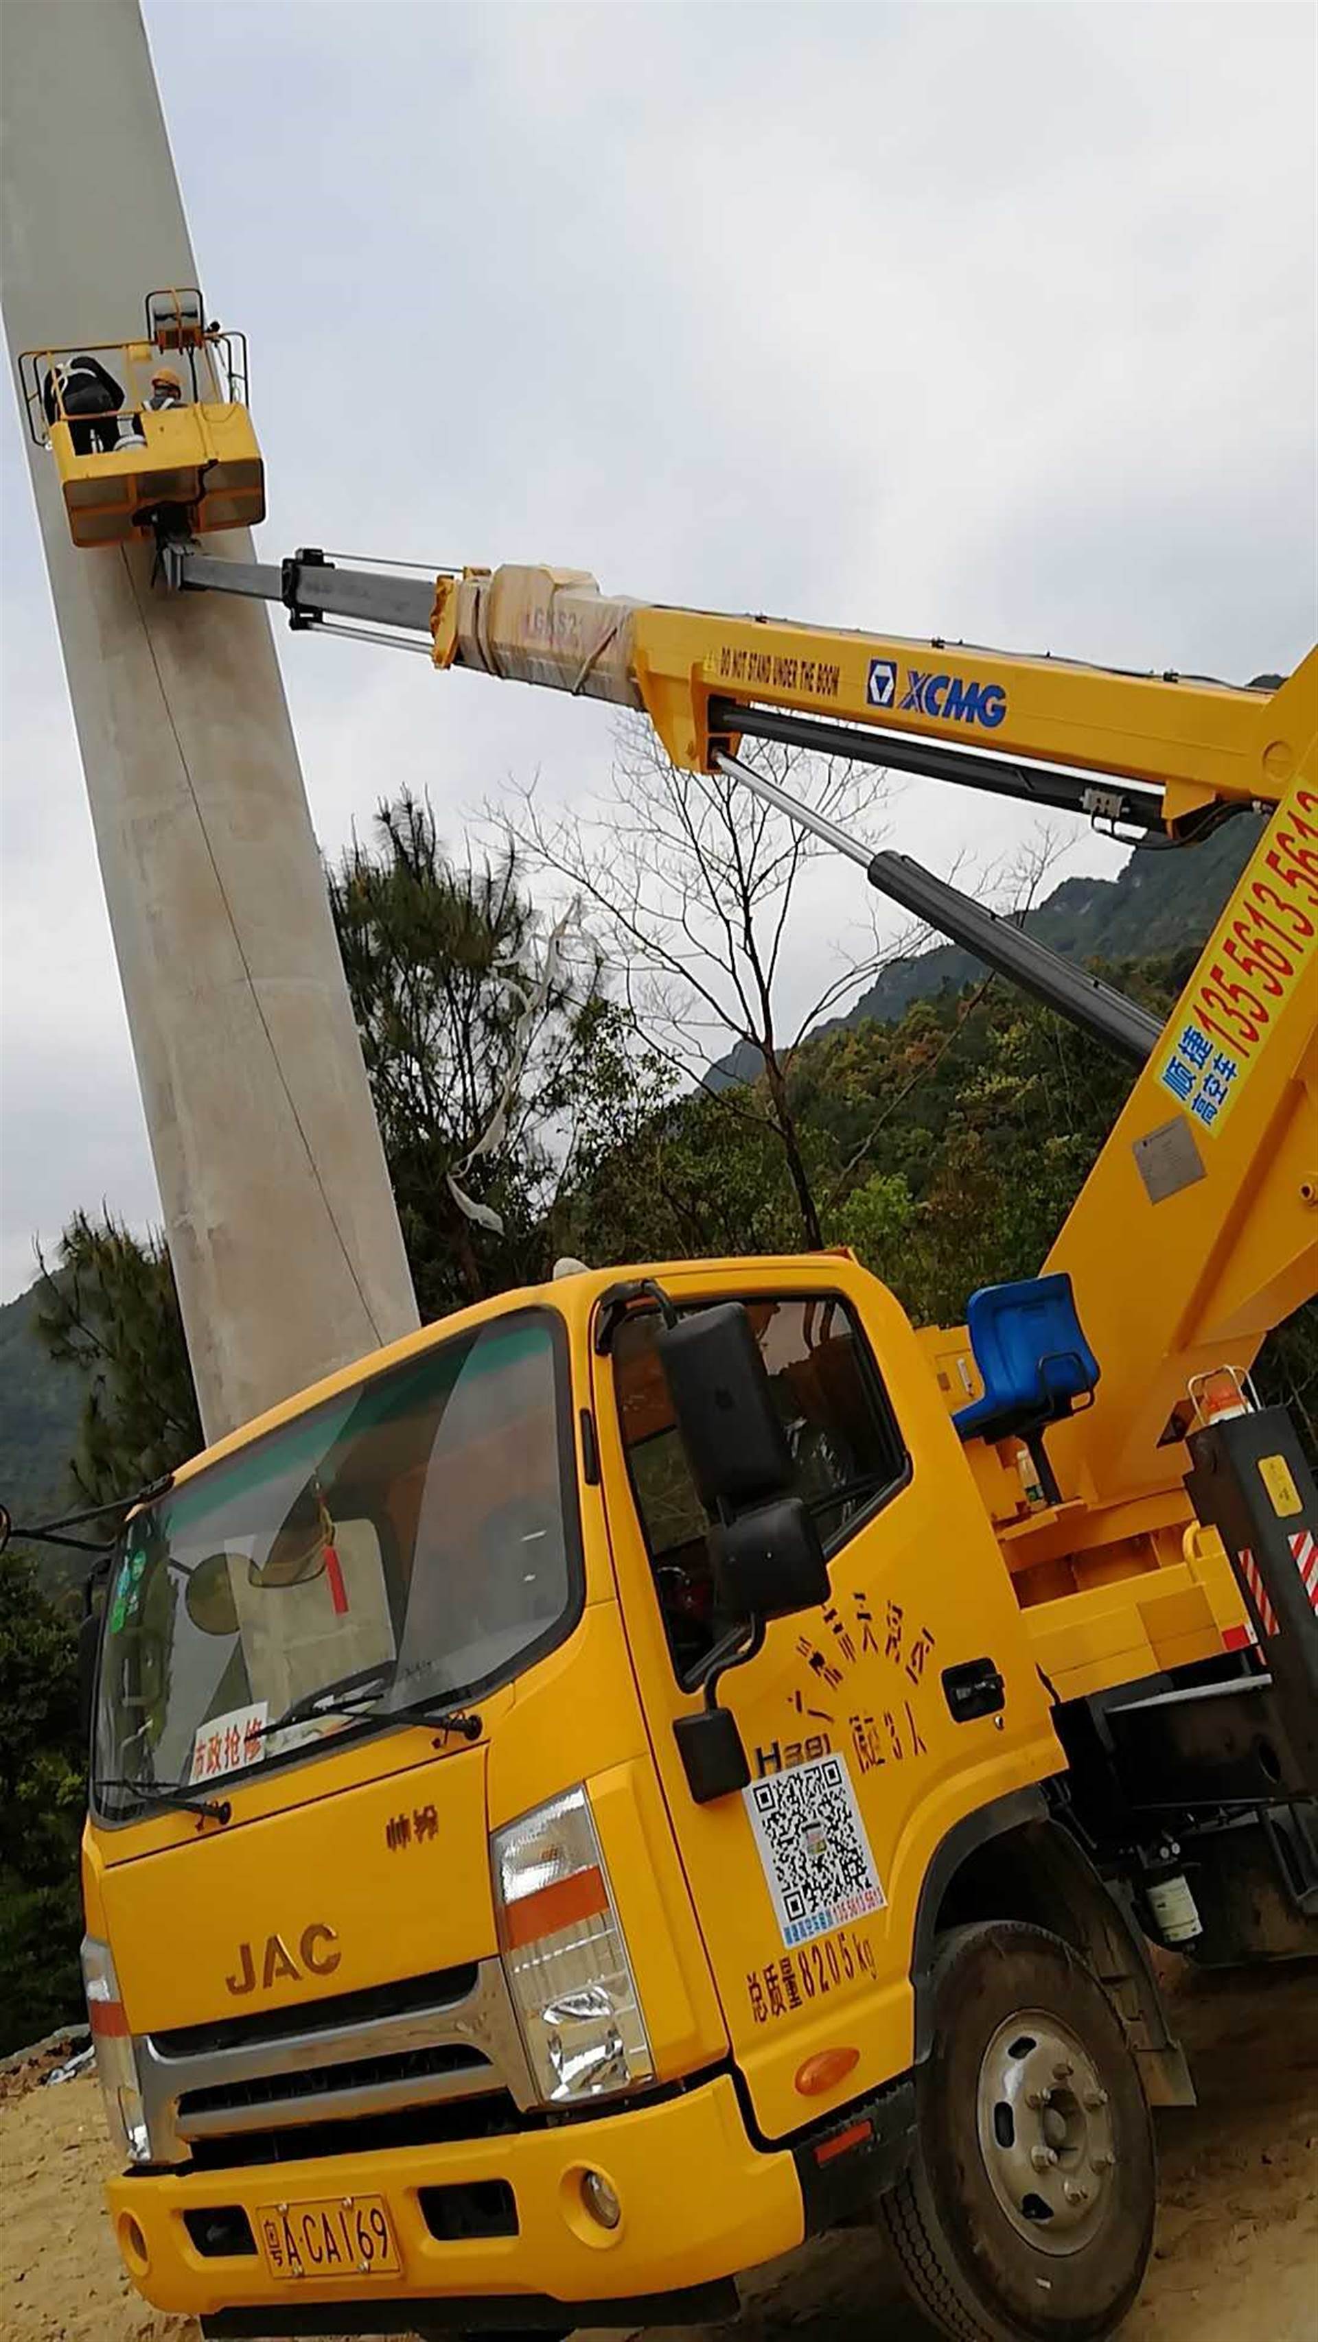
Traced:
POLYGON ((442 1316, 545 1272, 567 1166, 625 1075, 618 1019, 515 850, 454 867, 410 794, 328 883, 417 1300, 442 1316))

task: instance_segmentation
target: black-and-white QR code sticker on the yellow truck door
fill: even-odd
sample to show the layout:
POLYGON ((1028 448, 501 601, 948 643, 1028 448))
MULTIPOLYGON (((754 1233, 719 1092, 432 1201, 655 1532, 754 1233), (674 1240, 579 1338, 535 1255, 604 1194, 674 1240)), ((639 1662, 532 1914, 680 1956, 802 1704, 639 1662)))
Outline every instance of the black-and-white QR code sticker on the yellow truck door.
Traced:
POLYGON ((742 1799, 787 1946, 883 1911, 845 1756, 812 1756, 754 1780, 742 1799))

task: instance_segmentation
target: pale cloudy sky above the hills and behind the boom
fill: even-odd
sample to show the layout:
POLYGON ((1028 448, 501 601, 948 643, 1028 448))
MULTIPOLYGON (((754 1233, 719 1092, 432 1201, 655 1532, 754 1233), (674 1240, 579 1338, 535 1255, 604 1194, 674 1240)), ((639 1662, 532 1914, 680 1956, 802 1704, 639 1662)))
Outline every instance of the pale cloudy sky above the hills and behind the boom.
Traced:
MULTIPOLYGON (((267 560, 550 560, 1231 679, 1311 642, 1309 7, 145 19, 208 307, 253 342, 267 560)), ((73 1206, 157 1206, 12 408, 0 454, 7 1297, 73 1206)), ((279 653, 330 852, 405 780, 452 843, 508 780, 606 785, 602 707, 279 653)), ((939 869, 1021 836, 932 785, 885 822, 939 869)), ((1079 829, 1068 867, 1119 860, 1079 829)))

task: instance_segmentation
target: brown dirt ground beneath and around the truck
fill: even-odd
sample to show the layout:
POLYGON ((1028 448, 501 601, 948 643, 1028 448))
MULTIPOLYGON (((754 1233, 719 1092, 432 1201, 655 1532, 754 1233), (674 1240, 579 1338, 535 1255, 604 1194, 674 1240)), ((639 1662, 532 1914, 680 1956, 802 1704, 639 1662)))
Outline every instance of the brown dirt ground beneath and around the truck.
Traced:
MULTIPOLYGON (((1173 2005, 1201 2105, 1156 2117, 1159 2241, 1124 2342, 1316 2342, 1318 1965, 1189 1974, 1173 2005)), ((101 2209, 103 2169, 91 2080, 0 2103, 0 2342, 197 2342, 190 2319, 159 2316, 129 2290, 101 2209)), ((705 2342, 927 2333, 878 2239, 850 2232, 756 2272, 740 2321, 705 2342)))

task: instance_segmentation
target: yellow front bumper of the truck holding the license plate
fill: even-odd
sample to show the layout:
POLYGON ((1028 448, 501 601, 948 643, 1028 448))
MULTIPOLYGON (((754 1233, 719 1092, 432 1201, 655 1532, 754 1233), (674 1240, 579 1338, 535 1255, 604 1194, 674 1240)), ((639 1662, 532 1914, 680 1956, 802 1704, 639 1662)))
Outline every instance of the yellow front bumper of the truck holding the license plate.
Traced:
MULTIPOLYGON (((110 2180, 115 2237, 140 2293, 157 2309, 215 2319, 234 2312, 232 2333, 382 2330, 384 2305, 407 2302, 403 2323, 445 2326, 445 2300, 494 2312, 496 2302, 627 2305, 707 2286, 791 2251, 805 2234, 801 2180, 791 2152, 758 2152, 747 2138, 728 2075, 660 2105, 632 2105, 597 2122, 473 2138, 452 2145, 389 2148, 375 2155, 234 2171, 140 2173, 110 2180), (583 2171, 616 2190, 623 2218, 597 2227, 581 2201, 583 2171), (503 2180, 517 2209, 515 2237, 440 2241, 426 2227, 419 2190, 503 2180), (389 2201, 400 2274, 363 2281, 281 2281, 258 2253, 211 2258, 197 2251, 185 2213, 239 2206, 258 2234, 258 2211, 323 2197, 377 2194, 389 2201), (129 2220, 145 2241, 131 2248, 129 2220), (344 2328, 344 2302, 365 2319, 344 2328), (316 2326, 316 2307, 330 2316, 316 2326), (267 2323, 250 2312, 269 2309, 267 2323), (335 2312, 339 2323, 335 2326, 335 2312), (246 2314, 246 2316, 243 2316, 246 2314)), ((670 2312, 672 2316, 672 2312, 670 2312)), ((464 2323, 487 2323, 466 2314, 464 2323)), ((515 2319, 508 2319, 515 2323, 515 2319)), ((564 2319, 564 2326, 578 2323, 564 2319)), ((618 2323, 625 2323, 623 2312, 618 2323)), ((215 2330, 225 2330, 220 2323, 215 2330)), ((384 2328, 389 2330, 389 2328, 384 2328)))

